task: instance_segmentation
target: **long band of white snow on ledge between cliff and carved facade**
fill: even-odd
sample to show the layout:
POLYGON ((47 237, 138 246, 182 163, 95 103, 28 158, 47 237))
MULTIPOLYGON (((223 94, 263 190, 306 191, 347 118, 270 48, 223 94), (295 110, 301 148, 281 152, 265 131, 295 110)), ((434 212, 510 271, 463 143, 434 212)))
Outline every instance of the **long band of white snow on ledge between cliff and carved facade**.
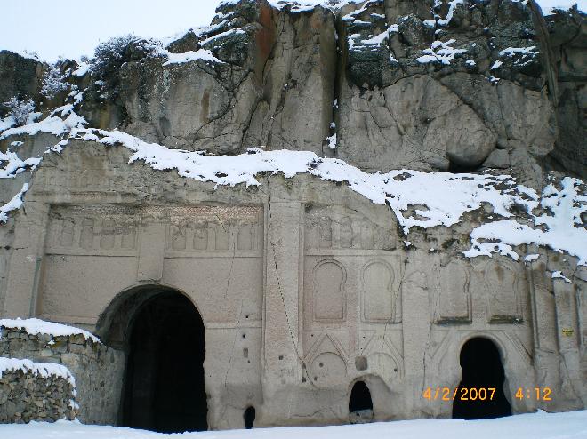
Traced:
MULTIPOLYGON (((69 111, 68 117, 72 116, 69 111)), ((55 121, 47 118, 47 131, 54 132, 55 121)), ((367 173, 336 158, 321 158, 308 151, 248 148, 238 156, 207 156, 202 151, 186 151, 147 143, 125 132, 108 132, 84 128, 82 122, 70 126, 62 121, 68 137, 47 148, 45 154, 60 153, 68 145, 68 139, 95 141, 107 146, 123 146, 133 151, 129 162, 143 161, 155 170, 175 170, 181 177, 213 182, 218 186, 247 187, 259 185, 255 178, 261 172, 283 173, 292 178, 309 173, 322 180, 346 182, 350 189, 365 196, 373 203, 388 204, 395 213, 399 225, 409 236, 414 227, 452 227, 462 221, 466 212, 489 205, 492 215, 485 216, 485 223, 470 232, 470 249, 466 257, 491 256, 494 253, 519 260, 515 247, 527 243, 566 252, 577 259, 578 265, 587 265, 587 230, 582 215, 587 212, 587 191, 582 180, 566 177, 551 180, 538 194, 535 189, 518 184, 509 175, 419 172, 396 170, 387 173, 367 173), (411 212, 414 206, 418 206, 411 212), (408 213, 410 212, 410 213, 408 213)), ((44 122, 20 128, 20 134, 44 132, 44 122)), ((2 134, 2 136, 5 136, 2 134)), ((40 157, 12 158, 8 165, 10 178, 22 168, 31 172, 41 163, 40 157)), ((22 188, 12 200, 0 206, 0 222, 6 220, 6 212, 20 207, 28 186, 22 188)))

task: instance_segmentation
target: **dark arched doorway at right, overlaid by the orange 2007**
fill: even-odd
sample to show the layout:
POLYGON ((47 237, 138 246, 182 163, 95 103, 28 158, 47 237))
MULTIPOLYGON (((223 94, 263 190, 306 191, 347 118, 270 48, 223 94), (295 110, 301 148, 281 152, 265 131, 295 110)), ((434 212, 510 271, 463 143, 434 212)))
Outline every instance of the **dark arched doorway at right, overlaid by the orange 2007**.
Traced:
POLYGON ((503 393, 502 359, 493 341, 481 337, 468 340, 461 349, 461 370, 457 395, 468 399, 454 399, 453 418, 490 419, 511 415, 511 405, 503 393), (493 398, 489 388, 495 388, 493 398), (486 393, 481 389, 486 389, 486 393))

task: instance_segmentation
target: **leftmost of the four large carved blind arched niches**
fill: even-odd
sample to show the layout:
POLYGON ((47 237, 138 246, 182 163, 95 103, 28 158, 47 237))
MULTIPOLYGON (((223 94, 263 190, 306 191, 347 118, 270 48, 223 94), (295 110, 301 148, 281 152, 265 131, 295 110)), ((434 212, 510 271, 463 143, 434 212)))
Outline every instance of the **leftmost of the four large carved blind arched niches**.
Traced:
POLYGON ((340 262, 324 259, 312 275, 312 315, 316 322, 342 322, 346 319, 347 273, 340 262))

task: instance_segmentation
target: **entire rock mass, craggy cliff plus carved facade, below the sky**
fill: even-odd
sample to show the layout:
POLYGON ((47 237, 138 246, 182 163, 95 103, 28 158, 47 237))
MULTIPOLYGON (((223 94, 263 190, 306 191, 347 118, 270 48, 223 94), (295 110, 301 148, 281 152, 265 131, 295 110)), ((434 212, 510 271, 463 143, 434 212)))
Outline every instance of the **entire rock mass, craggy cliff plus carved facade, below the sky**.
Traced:
POLYGON ((101 336, 108 362, 68 351, 81 420, 587 407, 585 14, 334 3, 0 52, 0 101, 36 106, 0 107, 0 312, 101 336), (425 396, 459 385, 495 401, 425 396))

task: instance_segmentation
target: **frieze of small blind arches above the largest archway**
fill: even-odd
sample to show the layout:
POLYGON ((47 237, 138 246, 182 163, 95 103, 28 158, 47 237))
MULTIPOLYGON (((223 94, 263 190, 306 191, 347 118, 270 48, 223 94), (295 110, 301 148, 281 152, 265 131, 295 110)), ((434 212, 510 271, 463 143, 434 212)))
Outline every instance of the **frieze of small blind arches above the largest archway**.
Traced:
POLYGON ((47 253, 134 255, 141 225, 165 224, 165 253, 260 256, 262 209, 252 206, 62 205, 50 212, 47 253))

